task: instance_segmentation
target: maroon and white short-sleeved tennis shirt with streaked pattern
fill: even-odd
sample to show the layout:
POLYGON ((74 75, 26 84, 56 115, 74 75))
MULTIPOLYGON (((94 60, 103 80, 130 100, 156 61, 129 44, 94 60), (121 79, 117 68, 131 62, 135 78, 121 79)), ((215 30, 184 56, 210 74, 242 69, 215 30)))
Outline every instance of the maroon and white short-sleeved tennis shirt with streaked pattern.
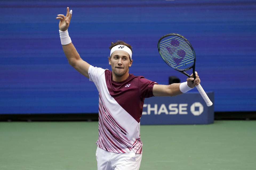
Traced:
POLYGON ((90 66, 90 81, 99 91, 98 147, 109 152, 142 153, 140 118, 145 97, 153 96, 157 84, 142 76, 129 77, 122 82, 112 80, 112 72, 90 66))

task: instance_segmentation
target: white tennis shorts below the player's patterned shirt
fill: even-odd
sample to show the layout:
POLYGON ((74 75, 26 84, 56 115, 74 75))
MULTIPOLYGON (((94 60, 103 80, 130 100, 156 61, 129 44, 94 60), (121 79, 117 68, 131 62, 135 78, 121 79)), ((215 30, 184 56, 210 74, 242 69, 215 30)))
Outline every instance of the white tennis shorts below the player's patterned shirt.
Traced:
POLYGON ((96 159, 98 170, 138 170, 142 154, 114 153, 97 147, 96 159))

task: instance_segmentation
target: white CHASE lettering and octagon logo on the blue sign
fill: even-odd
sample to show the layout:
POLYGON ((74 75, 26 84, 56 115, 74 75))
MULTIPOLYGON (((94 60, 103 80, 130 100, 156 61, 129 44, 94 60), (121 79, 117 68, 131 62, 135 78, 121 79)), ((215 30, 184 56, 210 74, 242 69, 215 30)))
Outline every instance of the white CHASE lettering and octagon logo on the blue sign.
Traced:
MULTIPOLYGON (((157 104, 154 104, 154 106, 151 106, 151 104, 143 104, 143 108, 145 109, 143 109, 144 112, 142 112, 142 114, 151 114, 151 112, 154 114, 188 114, 187 106, 188 104, 186 103, 169 104, 167 107, 165 104, 161 104, 160 107, 158 107, 157 104)), ((199 116, 203 113, 203 105, 200 102, 193 103, 189 109, 194 116, 199 116)))

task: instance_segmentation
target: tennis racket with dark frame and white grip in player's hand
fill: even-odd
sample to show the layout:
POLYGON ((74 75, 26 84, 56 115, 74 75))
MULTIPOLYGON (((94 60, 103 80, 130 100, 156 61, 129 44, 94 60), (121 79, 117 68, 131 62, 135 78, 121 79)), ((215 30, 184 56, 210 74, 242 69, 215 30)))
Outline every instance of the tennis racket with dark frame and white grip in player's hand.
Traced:
MULTIPOLYGON (((176 33, 162 36, 158 41, 158 51, 166 64, 189 78, 191 76, 184 71, 192 68, 193 77, 195 78, 195 51, 189 41, 183 36, 176 33)), ((202 86, 198 84, 195 87, 203 97, 203 100, 205 100, 207 106, 211 106, 213 103, 202 86)))

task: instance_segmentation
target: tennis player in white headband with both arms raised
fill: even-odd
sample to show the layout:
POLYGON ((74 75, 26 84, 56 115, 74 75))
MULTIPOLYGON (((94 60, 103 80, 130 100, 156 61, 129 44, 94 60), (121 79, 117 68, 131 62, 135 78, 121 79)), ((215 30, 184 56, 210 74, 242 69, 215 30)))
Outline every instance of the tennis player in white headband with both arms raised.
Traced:
POLYGON ((145 97, 185 93, 200 83, 197 73, 195 79, 188 78, 186 82, 170 85, 160 85, 142 76, 129 74, 133 63, 132 48, 123 41, 111 43, 109 65, 112 71, 91 66, 81 59, 71 43, 67 28, 72 10, 67 7, 66 16, 57 16, 61 44, 69 64, 93 81, 99 91, 98 169, 139 169, 142 158, 140 117, 145 97))

